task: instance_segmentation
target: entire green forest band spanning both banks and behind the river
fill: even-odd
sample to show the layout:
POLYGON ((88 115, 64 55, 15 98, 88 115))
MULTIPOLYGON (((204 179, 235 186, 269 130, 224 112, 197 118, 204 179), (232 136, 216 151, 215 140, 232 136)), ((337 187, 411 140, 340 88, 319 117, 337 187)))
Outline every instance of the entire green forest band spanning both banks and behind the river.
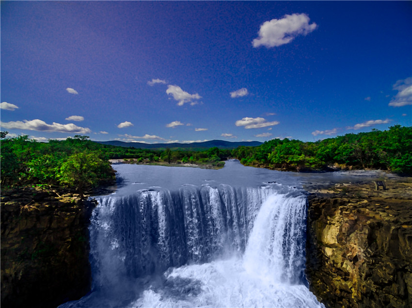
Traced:
POLYGON ((88 136, 36 142, 28 136, 6 138, 1 132, 1 189, 35 185, 65 187, 81 196, 85 190, 113 182, 109 159, 129 163, 196 164, 222 167, 237 158, 245 166, 293 171, 383 169, 412 174, 412 127, 346 134, 316 142, 272 139, 260 146, 236 149, 134 149, 103 145, 88 136))

